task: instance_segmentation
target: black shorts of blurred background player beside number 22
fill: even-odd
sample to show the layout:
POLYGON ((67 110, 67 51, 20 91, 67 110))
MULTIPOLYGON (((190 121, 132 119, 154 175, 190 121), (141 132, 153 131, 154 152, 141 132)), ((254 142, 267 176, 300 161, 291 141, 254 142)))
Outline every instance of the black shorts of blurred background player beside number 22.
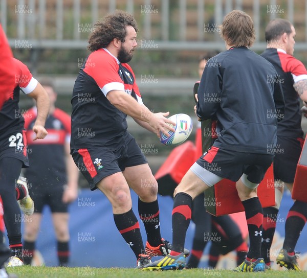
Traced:
POLYGON ((52 213, 67 213, 68 204, 62 202, 64 185, 46 186, 28 179, 29 194, 34 201, 34 213, 42 213, 45 205, 49 205, 52 213))

